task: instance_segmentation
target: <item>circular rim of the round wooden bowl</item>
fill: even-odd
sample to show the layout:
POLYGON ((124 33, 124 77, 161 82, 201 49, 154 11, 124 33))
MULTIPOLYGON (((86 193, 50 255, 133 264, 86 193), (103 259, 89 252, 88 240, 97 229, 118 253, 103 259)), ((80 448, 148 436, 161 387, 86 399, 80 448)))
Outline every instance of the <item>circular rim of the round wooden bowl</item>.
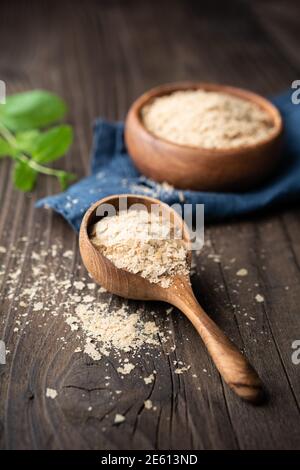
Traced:
POLYGON ((138 126, 139 131, 143 134, 145 139, 151 138, 152 140, 155 141, 157 145, 164 145, 166 149, 169 149, 170 151, 176 150, 181 150, 182 152, 184 151, 189 151, 190 154, 193 154, 195 156, 199 155, 199 152, 201 152, 202 155, 214 155, 214 156, 226 156, 226 155, 240 155, 241 152, 244 151, 251 151, 251 150, 256 150, 257 148, 264 147, 270 144, 270 142, 273 142, 276 140, 283 131, 283 121, 281 114, 279 110, 277 109, 276 106, 271 103, 267 98, 264 98, 263 96, 252 92, 251 90, 247 90, 244 88, 239 88, 231 85, 223 85, 219 83, 214 83, 214 82, 198 82, 198 81, 180 81, 180 82, 171 82, 171 83, 165 83, 162 85, 158 85, 154 88, 151 88, 150 90, 144 92, 141 96, 139 96, 131 105, 127 117, 126 117, 126 122, 125 122, 125 134, 126 134, 126 128, 128 124, 129 118, 134 120, 134 124, 138 126), (272 122, 274 124, 274 129, 270 133, 268 137, 265 139, 260 140, 259 142, 255 142, 249 145, 241 145, 239 147, 230 147, 230 148, 207 148, 207 147, 196 147, 193 145, 185 145, 185 144, 178 144, 176 142, 171 142, 167 139, 164 139, 162 137, 158 137, 155 134, 153 134, 151 131, 149 131, 145 124, 143 123, 143 119, 141 116, 141 110, 144 106, 147 105, 147 103, 151 102, 153 99, 163 96, 163 95, 168 95, 171 94, 175 91, 180 91, 180 90, 197 90, 197 89, 202 89, 205 91, 216 91, 216 92, 223 92, 232 96, 239 97, 241 99, 244 99, 246 101, 250 101, 251 103, 255 103, 257 106, 262 108, 272 119, 272 122))

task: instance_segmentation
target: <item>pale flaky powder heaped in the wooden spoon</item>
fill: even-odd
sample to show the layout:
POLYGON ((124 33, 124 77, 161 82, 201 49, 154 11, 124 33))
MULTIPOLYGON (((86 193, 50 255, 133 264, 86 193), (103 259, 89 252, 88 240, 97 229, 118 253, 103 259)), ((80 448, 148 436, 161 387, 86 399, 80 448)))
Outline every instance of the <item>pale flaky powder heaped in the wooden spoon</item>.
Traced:
POLYGON ((97 222, 91 239, 117 268, 166 288, 174 275, 189 272, 186 246, 175 235, 168 218, 156 212, 129 210, 97 222))

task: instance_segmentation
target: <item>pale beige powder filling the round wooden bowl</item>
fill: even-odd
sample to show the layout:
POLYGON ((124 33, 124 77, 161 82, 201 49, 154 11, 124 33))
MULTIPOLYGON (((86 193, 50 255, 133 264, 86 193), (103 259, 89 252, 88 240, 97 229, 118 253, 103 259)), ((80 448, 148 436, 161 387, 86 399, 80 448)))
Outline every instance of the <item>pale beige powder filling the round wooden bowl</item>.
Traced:
POLYGON ((228 149, 266 139, 274 124, 255 103, 205 90, 175 91, 142 108, 146 128, 157 137, 192 147, 228 149))

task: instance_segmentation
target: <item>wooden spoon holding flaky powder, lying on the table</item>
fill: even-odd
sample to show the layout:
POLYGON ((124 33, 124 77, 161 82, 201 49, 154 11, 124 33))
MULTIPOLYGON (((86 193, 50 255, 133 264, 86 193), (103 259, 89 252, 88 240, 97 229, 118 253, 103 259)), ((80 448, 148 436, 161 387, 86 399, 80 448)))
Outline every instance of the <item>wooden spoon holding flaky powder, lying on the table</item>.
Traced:
MULTIPOLYGON (((121 297, 161 300, 179 308, 193 323, 218 371, 229 387, 244 400, 259 403, 264 394, 262 383, 256 371, 199 305, 193 294, 189 276, 175 276, 171 286, 163 288, 137 274, 117 268, 91 243, 90 228, 101 218, 96 214, 97 208, 102 204, 112 204, 118 210, 120 201, 124 198, 127 198, 128 207, 133 204, 143 204, 148 211, 150 211, 151 205, 159 204, 162 213, 168 214, 172 223, 182 228, 183 240, 190 250, 188 229, 182 218, 171 207, 146 196, 130 194, 109 196, 91 206, 82 220, 79 245, 88 272, 97 283, 109 292, 121 297)), ((190 262, 191 251, 188 256, 190 262)))

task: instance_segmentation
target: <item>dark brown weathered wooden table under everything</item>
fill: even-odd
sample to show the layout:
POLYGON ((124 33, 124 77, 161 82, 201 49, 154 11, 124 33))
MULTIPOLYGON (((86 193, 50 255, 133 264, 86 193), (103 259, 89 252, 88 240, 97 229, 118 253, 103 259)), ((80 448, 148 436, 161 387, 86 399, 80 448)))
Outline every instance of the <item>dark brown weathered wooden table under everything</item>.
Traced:
MULTIPOLYGON (((299 15, 299 2, 280 0, 209 0, 195 5, 10 0, 1 2, 0 78, 9 92, 45 88, 65 98, 76 139, 60 165, 84 176, 93 119, 124 119, 133 99, 149 87, 184 79, 230 83, 267 95, 289 87, 299 78, 299 15)), ((70 278, 80 278, 85 270, 77 235, 58 215, 34 209, 38 198, 59 190, 56 182, 41 178, 36 190, 24 195, 13 189, 10 173, 11 162, 1 161, 0 245, 7 253, 1 258, 5 272, 0 279, 0 338, 10 351, 7 364, 0 367, 2 448, 300 447, 300 365, 291 359, 292 342, 300 339, 297 208, 207 226, 211 246, 199 255, 193 277, 203 306, 260 373, 270 392, 269 402, 255 408, 236 398, 192 326, 175 312, 170 327, 176 353, 170 358, 162 347, 161 356, 153 359, 157 376, 151 393, 130 374, 112 407, 101 386, 103 362, 74 354, 76 338, 71 333, 64 349, 57 341, 65 332, 62 315, 40 327, 29 307, 30 324, 14 332, 19 310, 15 295, 22 292, 27 263, 41 241, 45 247, 60 244, 58 264, 63 252, 74 251, 70 278), (21 262, 11 247, 23 237, 27 241, 21 262), (220 262, 214 262, 213 254, 221 255, 220 262), (6 274, 18 266, 17 291, 8 298, 6 274), (249 274, 237 286, 240 268, 249 274), (263 303, 255 301, 257 293, 264 296, 263 303), (186 341, 181 341, 183 336, 186 341), (197 378, 174 374, 176 357, 192 364, 197 378), (53 384, 58 397, 45 399, 46 386, 53 384), (149 397, 157 405, 155 412, 143 409, 149 397), (89 404, 92 414, 87 411, 89 404), (122 426, 112 425, 116 412, 126 414, 122 426)), ((56 268, 49 264, 49 276, 56 268)), ((45 295, 46 290, 61 301, 51 283, 45 282, 45 295)), ((39 300, 43 295, 34 299, 39 300)), ((163 311, 158 304, 144 308, 163 311)), ((149 369, 150 360, 142 358, 143 370, 149 369)), ((120 386, 114 377, 111 386, 120 386)))

